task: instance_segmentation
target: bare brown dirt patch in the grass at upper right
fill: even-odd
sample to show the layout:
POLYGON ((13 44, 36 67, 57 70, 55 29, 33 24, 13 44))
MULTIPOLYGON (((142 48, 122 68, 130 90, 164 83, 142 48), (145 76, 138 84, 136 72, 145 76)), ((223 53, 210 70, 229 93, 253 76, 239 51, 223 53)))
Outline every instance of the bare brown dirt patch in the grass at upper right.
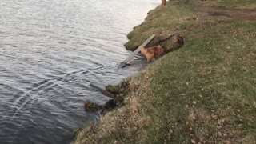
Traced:
POLYGON ((242 21, 256 21, 256 10, 251 9, 225 9, 208 7, 198 11, 204 17, 236 19, 242 21))

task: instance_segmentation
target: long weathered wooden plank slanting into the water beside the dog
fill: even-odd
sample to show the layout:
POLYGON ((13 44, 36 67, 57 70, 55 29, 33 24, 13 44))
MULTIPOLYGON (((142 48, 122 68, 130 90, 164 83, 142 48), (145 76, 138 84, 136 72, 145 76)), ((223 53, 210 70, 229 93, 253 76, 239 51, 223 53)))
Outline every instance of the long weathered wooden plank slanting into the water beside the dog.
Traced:
MULTIPOLYGON (((142 43, 141 46, 146 46, 148 43, 150 43, 150 41, 155 37, 155 34, 151 35, 150 38, 147 38, 145 42, 142 43)), ((138 52, 141 50, 141 46, 138 46, 138 48, 136 50, 134 50, 134 52, 132 54, 130 54, 130 56, 128 58, 126 58, 124 61, 122 61, 118 68, 123 68, 124 66, 126 66, 127 62, 130 62, 136 54, 138 54, 138 52)))

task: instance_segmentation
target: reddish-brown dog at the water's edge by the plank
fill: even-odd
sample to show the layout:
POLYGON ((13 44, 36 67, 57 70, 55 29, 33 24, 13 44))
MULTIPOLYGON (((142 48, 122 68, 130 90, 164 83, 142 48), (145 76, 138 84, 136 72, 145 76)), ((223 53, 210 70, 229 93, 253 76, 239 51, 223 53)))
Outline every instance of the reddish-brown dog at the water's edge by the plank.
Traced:
POLYGON ((152 46, 147 49, 141 46, 141 52, 145 55, 147 62, 152 62, 155 57, 161 57, 163 55, 164 49, 162 46, 152 46))

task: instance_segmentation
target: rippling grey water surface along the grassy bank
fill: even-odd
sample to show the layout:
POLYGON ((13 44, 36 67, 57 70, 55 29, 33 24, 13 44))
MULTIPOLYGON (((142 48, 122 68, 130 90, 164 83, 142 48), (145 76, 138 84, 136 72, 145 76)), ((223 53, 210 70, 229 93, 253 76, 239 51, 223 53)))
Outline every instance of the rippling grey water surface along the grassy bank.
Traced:
POLYGON ((126 34, 158 0, 1 0, 0 143, 69 143, 98 114, 90 88, 139 70, 117 70, 126 34))

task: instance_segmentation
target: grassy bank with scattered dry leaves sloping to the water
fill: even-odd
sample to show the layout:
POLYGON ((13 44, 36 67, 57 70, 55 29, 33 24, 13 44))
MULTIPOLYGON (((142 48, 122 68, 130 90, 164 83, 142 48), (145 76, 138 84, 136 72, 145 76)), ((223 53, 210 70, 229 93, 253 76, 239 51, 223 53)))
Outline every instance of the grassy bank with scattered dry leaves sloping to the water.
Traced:
POLYGON ((256 143, 256 22, 234 15, 255 4, 177 0, 151 11, 127 49, 173 31, 185 45, 131 78, 126 105, 85 126, 75 143, 256 143))

